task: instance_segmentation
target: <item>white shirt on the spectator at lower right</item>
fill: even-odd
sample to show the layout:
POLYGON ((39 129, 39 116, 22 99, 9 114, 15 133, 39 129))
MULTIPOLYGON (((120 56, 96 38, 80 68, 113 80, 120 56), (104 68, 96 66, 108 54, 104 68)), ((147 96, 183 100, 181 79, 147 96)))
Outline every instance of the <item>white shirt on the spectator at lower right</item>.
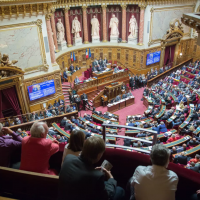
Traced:
POLYGON ((178 176, 164 167, 138 166, 131 185, 137 200, 175 200, 178 176))

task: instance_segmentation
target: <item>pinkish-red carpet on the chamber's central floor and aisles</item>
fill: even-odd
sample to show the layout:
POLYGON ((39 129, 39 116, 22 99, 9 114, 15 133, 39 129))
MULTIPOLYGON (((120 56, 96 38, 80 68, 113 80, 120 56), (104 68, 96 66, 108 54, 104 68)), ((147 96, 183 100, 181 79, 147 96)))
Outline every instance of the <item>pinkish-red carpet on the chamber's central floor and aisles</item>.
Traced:
MULTIPOLYGON (((132 92, 132 94, 135 97, 135 104, 133 104, 129 107, 125 107, 125 108, 115 112, 115 114, 119 115, 119 124, 125 125, 127 115, 144 114, 146 107, 143 105, 143 101, 141 101, 142 96, 143 96, 143 91, 144 91, 144 88, 134 90, 132 92)), ((96 110, 104 113, 107 111, 107 107, 100 106, 100 107, 96 108, 96 110)), ((79 112, 79 116, 83 117, 84 113, 91 115, 92 111, 82 110, 81 112, 79 112)), ((124 135, 124 132, 125 132, 125 129, 122 129, 121 131, 118 132, 118 134, 124 135)), ((122 139, 118 140, 116 142, 116 144, 123 145, 123 140, 122 139)))

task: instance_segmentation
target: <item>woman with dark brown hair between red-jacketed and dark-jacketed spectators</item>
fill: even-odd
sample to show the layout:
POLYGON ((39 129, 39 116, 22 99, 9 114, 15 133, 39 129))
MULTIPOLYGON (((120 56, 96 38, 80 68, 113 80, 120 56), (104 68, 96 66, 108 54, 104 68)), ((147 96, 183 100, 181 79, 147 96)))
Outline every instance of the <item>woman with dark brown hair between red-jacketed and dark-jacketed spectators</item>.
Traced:
POLYGON ((68 154, 72 154, 78 157, 83 149, 84 141, 85 141, 85 134, 82 131, 80 130, 72 131, 69 138, 69 143, 65 145, 62 163, 68 154))

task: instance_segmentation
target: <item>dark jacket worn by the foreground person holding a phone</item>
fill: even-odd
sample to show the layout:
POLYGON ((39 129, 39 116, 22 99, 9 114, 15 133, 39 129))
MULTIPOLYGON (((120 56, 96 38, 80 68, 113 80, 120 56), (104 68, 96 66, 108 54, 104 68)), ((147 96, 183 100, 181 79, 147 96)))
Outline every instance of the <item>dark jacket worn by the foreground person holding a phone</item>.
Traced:
POLYGON ((58 200, 108 200, 117 182, 110 178, 104 184, 104 174, 95 170, 82 157, 67 155, 59 176, 58 200))

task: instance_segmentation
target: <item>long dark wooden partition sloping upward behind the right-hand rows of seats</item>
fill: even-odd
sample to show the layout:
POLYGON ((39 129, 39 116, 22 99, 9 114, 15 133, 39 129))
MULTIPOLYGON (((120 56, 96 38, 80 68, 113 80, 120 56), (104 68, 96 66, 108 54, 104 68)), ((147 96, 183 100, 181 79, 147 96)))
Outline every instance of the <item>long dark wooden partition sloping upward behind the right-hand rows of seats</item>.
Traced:
POLYGON ((192 62, 192 60, 193 60, 192 58, 188 59, 188 60, 186 60, 186 61, 184 61, 184 62, 182 62, 182 63, 180 63, 180 64, 178 64, 178 65, 176 65, 176 66, 174 66, 172 68, 170 68, 169 70, 163 72, 162 74, 157 75, 156 77, 152 78, 151 80, 149 80, 147 82, 147 86, 151 87, 154 83, 157 83, 160 79, 164 79, 166 76, 169 76, 172 72, 182 68, 183 65, 187 66, 190 62, 192 62))

